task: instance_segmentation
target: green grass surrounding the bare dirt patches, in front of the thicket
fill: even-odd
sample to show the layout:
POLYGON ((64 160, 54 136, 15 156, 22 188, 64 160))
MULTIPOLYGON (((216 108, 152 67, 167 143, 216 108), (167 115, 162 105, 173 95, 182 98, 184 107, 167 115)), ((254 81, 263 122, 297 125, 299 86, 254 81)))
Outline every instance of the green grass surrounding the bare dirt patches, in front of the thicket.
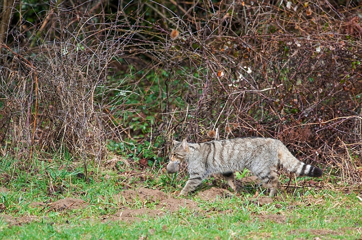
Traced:
MULTIPOLYGON (((166 211, 163 216, 141 216, 139 221, 106 221, 104 218, 124 208, 154 209, 158 201, 137 199, 117 202, 114 195, 122 188, 145 187, 166 193, 179 191, 185 179, 159 169, 144 171, 133 167, 132 174, 119 169, 93 169, 91 181, 85 181, 81 167, 53 159, 35 162, 33 172, 21 171, 11 159, 1 160, 1 181, 10 191, 0 193, 0 239, 359 239, 362 232, 362 202, 359 190, 345 194, 341 190, 301 187, 288 190, 273 202, 254 200, 257 186, 246 187, 239 195, 205 200, 197 193, 209 188, 204 183, 188 199, 197 208, 166 211), (13 175, 13 177, 11 177, 13 175), (131 176, 131 177, 130 177, 131 176), (53 192, 51 189, 56 189, 53 192), (80 198, 88 206, 54 211, 50 206, 32 207, 30 203, 55 202, 65 197, 80 198), (11 224, 6 218, 34 216, 37 220, 11 224), (270 220, 272 216, 277 219, 270 220), (280 221, 280 218, 285 219, 280 221)), ((130 167, 130 166, 129 166, 130 167)), ((130 169, 127 169, 130 170, 130 169)), ((91 171, 92 172, 92 169, 91 171)), ((299 178, 300 179, 300 178, 299 178)), ((303 178, 302 178, 303 179, 303 178)), ((309 178, 304 178, 308 180, 309 178)), ((285 181, 287 181, 286 179, 285 181)), ((327 182, 327 179, 314 179, 327 182)), ((214 180, 220 187, 221 180, 214 180)), ((326 185, 326 184, 325 184, 326 185)), ((180 199, 178 196, 173 196, 180 199)), ((266 197, 262 194, 259 197, 266 197)), ((21 220, 19 220, 21 221, 21 220)))

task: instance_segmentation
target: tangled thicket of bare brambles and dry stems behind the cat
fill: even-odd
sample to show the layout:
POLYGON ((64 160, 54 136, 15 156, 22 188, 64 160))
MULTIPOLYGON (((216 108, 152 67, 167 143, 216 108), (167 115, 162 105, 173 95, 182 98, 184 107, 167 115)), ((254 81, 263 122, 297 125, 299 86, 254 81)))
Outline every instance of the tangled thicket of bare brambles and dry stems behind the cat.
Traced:
MULTIPOLYGON (((361 1, 0 1, 0 155, 110 152, 161 173, 172 138, 282 140, 362 181, 361 1)), ((121 168, 122 165, 114 165, 121 168)))

